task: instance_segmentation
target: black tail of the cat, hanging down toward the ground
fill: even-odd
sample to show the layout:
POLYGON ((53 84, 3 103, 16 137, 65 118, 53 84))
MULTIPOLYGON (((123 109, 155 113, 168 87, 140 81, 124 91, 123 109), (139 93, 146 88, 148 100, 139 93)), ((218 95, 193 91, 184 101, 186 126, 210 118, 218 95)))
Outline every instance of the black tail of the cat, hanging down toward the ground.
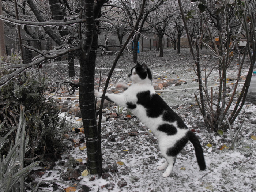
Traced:
POLYGON ((202 146, 201 146, 198 138, 192 131, 188 131, 187 136, 188 136, 188 140, 191 141, 191 143, 193 144, 193 146, 195 148, 196 159, 197 159, 197 163, 200 167, 200 170, 204 170, 206 168, 206 165, 205 165, 205 161, 204 161, 204 154, 203 154, 202 146))

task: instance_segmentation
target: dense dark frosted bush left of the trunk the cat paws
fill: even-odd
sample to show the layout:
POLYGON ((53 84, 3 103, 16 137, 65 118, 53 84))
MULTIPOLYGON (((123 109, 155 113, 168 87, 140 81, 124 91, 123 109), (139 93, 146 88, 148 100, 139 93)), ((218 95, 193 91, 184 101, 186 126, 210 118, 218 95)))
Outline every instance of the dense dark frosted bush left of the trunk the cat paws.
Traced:
MULTIPOLYGON (((7 72, 2 71, 2 73, 7 72)), ((44 76, 26 73, 18 75, 16 79, 0 88, 0 123, 5 121, 4 129, 0 131, 0 138, 18 124, 20 105, 23 105, 26 109, 24 116, 27 121, 28 146, 31 147, 26 153, 26 158, 31 160, 41 159, 45 154, 56 155, 63 149, 61 137, 57 135, 65 130, 64 120, 59 118, 58 105, 51 99, 46 101, 47 86, 44 76)), ((15 133, 10 134, 8 139, 15 142, 15 133)), ((7 152, 8 147, 5 147, 1 155, 7 152)))

